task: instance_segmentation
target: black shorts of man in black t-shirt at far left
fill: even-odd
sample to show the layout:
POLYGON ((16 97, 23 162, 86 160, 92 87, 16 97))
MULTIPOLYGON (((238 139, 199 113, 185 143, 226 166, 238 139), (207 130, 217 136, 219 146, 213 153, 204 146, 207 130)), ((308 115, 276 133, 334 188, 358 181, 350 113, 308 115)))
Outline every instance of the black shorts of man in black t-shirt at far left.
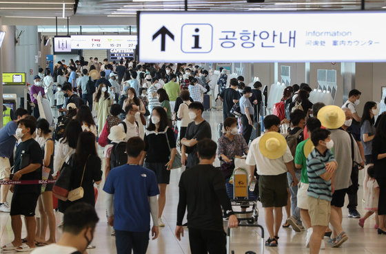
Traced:
POLYGON ((10 215, 34 216, 38 198, 39 194, 37 193, 14 193, 12 195, 10 215))

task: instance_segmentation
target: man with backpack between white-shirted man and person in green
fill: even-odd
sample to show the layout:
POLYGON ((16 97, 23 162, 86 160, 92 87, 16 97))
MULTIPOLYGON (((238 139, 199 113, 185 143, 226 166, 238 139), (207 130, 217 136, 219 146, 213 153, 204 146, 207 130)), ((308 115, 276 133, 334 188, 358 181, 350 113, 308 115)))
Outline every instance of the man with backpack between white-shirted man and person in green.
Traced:
MULTIPOLYGON (((290 114, 290 123, 293 129, 285 137, 288 147, 290 147, 292 156, 296 155, 296 147, 300 142, 304 140, 303 129, 305 127, 305 112, 300 109, 296 109, 293 113, 290 114)), ((296 178, 301 178, 301 169, 295 169, 296 178)), ((298 208, 298 186, 294 185, 294 180, 292 175, 287 173, 288 186, 291 193, 291 203, 287 204, 287 209, 290 211, 291 216, 287 218, 287 223, 292 226, 292 229, 296 232, 303 231, 304 227, 301 222, 300 209, 298 208)), ((287 213, 287 215, 290 215, 287 213)))

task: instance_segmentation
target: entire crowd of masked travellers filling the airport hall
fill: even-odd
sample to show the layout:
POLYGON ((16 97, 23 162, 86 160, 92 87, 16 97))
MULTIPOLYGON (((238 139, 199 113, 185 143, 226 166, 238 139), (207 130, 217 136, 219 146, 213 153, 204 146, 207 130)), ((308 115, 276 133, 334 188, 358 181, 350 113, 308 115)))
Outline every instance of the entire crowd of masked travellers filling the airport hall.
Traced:
POLYGON ((358 90, 337 107, 312 104, 312 89, 305 83, 287 87, 278 110, 263 120, 265 133, 258 136, 252 132, 258 131, 262 84, 246 86, 239 76, 226 87, 221 70, 217 84, 223 125, 216 143, 203 118, 203 95, 211 91, 209 72, 185 63, 103 62, 58 62, 53 76, 39 70, 30 87, 32 112, 17 109, 14 120, 0 129, 2 180, 59 182, 66 169, 71 171, 68 198, 59 199, 57 207, 52 199, 57 182, 1 185, 0 211, 10 213, 14 233, 4 251, 42 246, 33 253, 83 253, 99 221, 94 205, 104 173, 106 214, 117 253, 145 253, 149 233, 154 240, 159 226, 165 226, 170 172, 186 167, 179 180, 176 238, 181 240, 187 226, 192 253, 225 253, 223 220, 238 226, 230 202, 235 158, 245 160, 248 184, 256 184, 250 192, 263 204, 266 246, 278 246, 279 230, 291 226, 306 231, 305 246, 312 254, 325 248, 325 236, 327 245, 340 247, 349 237, 342 227, 346 195, 349 218, 358 218, 363 227, 375 213, 378 234, 386 234, 386 117, 372 101, 358 116, 358 90), (57 89, 51 88, 54 83, 57 89), (39 94, 61 115, 53 132, 51 123, 39 118, 39 94), (98 154, 101 147, 103 156, 98 154), (216 158, 219 168, 213 166, 216 158), (367 210, 362 218, 357 210, 360 170, 365 170, 367 210), (72 191, 79 187, 83 193, 73 199, 72 191), (283 207, 287 220, 282 225, 283 207), (54 208, 64 213, 59 242, 54 208), (26 218, 25 238, 21 215, 26 218))

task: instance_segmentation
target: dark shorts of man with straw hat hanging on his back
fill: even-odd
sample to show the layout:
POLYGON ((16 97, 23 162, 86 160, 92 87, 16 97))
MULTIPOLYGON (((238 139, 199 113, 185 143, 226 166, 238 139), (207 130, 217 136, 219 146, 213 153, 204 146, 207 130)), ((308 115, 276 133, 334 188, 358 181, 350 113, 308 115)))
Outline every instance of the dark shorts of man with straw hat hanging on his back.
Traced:
POLYGON ((258 191, 263 207, 285 207, 287 205, 287 173, 277 176, 260 176, 258 191))

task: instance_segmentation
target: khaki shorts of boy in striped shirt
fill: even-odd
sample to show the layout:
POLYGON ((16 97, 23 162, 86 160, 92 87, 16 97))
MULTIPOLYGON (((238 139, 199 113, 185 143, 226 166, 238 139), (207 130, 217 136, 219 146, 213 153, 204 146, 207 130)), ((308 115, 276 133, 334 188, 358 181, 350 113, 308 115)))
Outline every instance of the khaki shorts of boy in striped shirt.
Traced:
POLYGON ((328 226, 331 204, 327 200, 308 196, 308 214, 311 226, 328 226))

